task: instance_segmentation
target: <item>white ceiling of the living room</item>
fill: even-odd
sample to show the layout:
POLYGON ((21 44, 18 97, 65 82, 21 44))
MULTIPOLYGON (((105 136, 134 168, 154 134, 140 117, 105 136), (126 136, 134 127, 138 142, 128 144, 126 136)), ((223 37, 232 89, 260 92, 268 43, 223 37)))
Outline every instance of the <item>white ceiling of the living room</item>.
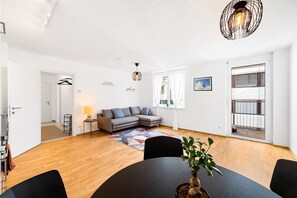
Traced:
POLYGON ((2 0, 10 47, 74 61, 141 71, 271 52, 297 38, 297 0, 262 0, 254 34, 220 33, 230 0, 59 0, 42 31, 48 0, 2 0))

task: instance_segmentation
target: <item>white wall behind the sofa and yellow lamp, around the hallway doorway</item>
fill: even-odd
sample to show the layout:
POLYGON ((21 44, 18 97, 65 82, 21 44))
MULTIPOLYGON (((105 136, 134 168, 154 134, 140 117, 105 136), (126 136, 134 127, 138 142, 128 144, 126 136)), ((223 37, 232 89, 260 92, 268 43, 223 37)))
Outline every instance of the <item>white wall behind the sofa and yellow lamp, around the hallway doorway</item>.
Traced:
MULTIPOLYGON (((96 114, 104 108, 128 107, 140 103, 138 82, 132 81, 129 72, 15 49, 9 49, 8 52, 10 63, 18 63, 24 67, 31 67, 42 72, 74 76, 74 134, 82 132, 82 121, 86 118, 86 115, 83 114, 84 106, 94 107, 93 117, 95 118, 96 114), (104 86, 101 84, 104 81, 112 81, 114 86, 104 86), (127 92, 126 88, 129 86, 134 87, 136 91, 127 92)), ((36 83, 40 84, 40 82, 36 83)), ((40 90, 31 91, 40 93, 40 90)), ((37 133, 40 133, 40 131, 37 133)))

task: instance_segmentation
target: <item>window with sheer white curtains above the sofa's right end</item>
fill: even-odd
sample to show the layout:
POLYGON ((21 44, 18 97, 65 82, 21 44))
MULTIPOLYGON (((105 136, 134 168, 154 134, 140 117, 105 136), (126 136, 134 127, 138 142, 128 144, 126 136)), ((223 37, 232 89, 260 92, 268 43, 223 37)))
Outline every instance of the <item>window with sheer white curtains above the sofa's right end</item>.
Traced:
POLYGON ((185 71, 183 69, 153 75, 153 106, 185 108, 185 71))

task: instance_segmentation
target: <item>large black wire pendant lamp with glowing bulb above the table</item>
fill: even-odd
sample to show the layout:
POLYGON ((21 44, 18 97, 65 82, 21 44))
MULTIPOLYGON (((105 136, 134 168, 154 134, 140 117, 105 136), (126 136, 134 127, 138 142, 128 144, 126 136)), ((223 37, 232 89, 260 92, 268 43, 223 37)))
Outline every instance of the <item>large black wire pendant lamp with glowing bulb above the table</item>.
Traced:
POLYGON ((261 0, 233 0, 222 13, 221 33, 228 40, 248 37, 259 27, 262 15, 261 0))

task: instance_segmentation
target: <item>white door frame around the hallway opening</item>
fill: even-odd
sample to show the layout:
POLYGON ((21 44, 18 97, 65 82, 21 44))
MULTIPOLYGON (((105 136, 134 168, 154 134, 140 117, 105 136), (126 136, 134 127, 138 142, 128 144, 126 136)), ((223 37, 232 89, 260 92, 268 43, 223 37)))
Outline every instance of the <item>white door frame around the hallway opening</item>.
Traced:
MULTIPOLYGON (((44 68, 39 68, 40 75, 41 73, 52 73, 52 74, 61 74, 61 75, 68 75, 72 76, 72 86, 73 86, 73 116, 72 116, 72 136, 75 136, 79 131, 78 126, 75 124, 77 123, 77 112, 76 112, 76 107, 78 106, 77 104, 77 97, 76 97, 76 73, 69 73, 69 72, 64 72, 64 71, 58 71, 58 70, 48 70, 44 68)), ((41 83, 41 82, 40 82, 41 83)), ((61 119, 61 118, 60 118, 61 119)))

